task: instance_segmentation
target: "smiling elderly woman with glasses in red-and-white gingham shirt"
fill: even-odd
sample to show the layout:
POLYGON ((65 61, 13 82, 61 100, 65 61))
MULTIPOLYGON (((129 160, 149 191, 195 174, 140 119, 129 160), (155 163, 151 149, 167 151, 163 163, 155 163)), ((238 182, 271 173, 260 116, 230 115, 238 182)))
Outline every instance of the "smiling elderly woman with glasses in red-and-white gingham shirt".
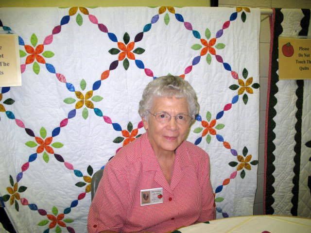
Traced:
POLYGON ((198 111, 193 88, 179 77, 146 86, 138 110, 146 133, 105 166, 89 233, 162 233, 214 219, 209 157, 185 141, 198 111))

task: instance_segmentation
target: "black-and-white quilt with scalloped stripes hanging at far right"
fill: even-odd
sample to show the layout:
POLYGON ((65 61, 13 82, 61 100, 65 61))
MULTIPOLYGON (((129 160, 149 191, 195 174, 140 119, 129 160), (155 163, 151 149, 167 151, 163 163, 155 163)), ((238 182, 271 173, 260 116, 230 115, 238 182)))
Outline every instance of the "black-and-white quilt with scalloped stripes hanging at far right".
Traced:
POLYGON ((279 36, 310 36, 310 27, 310 9, 275 9, 271 18, 266 214, 311 217, 311 80, 279 80, 277 49, 279 36))

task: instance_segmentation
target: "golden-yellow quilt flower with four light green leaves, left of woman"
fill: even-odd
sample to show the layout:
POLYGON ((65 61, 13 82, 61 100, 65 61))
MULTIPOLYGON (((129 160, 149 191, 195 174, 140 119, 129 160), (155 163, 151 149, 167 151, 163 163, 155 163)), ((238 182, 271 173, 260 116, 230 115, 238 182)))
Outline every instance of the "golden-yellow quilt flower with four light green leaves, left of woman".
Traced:
MULTIPOLYGON (((86 81, 84 79, 80 82, 80 87, 82 90, 86 89, 86 81)), ((75 109, 80 109, 83 106, 86 106, 82 111, 82 116, 84 119, 86 119, 88 117, 87 108, 88 109, 94 109, 94 111, 95 111, 94 104, 92 101, 99 102, 99 101, 104 99, 101 96, 93 96, 93 90, 87 91, 85 95, 81 91, 75 91, 74 93, 75 93, 75 96, 78 100, 75 104, 75 109)), ((73 98, 66 98, 64 100, 64 102, 67 104, 74 103, 75 101, 76 100, 73 98)))

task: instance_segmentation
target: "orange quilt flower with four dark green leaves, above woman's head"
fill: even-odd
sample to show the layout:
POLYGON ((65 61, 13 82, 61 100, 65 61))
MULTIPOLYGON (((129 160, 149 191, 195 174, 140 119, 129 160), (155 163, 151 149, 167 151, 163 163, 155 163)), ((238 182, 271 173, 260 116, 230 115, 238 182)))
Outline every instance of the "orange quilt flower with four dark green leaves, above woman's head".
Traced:
POLYGON ((129 65, 130 65, 128 59, 135 60, 135 54, 134 53, 142 54, 145 50, 142 48, 139 48, 139 47, 136 48, 135 50, 133 50, 135 47, 135 42, 134 41, 129 42, 130 41, 130 35, 128 33, 124 33, 123 41, 124 41, 124 43, 122 43, 122 42, 117 43, 118 48, 120 50, 117 48, 112 48, 108 52, 112 55, 119 54, 118 60, 119 61, 123 60, 123 67, 125 70, 127 70, 129 65))

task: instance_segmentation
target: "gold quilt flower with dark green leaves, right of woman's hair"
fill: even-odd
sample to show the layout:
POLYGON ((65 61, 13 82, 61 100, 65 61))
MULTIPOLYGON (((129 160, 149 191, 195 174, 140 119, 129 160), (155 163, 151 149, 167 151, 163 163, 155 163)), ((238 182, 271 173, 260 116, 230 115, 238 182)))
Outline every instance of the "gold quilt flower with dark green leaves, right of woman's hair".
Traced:
MULTIPOLYGON (((242 95, 244 92, 248 93, 248 94, 253 94, 254 93, 254 89, 258 89, 259 88, 259 83, 253 83, 253 77, 250 77, 250 78, 247 78, 248 76, 248 71, 246 68, 243 69, 242 71, 242 76, 245 80, 245 82, 242 80, 242 79, 238 79, 238 83, 239 85, 237 84, 232 84, 231 86, 229 86, 229 88, 231 90, 238 90, 238 95, 242 95)), ((244 104, 247 103, 248 101, 248 96, 247 94, 244 94, 243 95, 243 102, 244 104)))

